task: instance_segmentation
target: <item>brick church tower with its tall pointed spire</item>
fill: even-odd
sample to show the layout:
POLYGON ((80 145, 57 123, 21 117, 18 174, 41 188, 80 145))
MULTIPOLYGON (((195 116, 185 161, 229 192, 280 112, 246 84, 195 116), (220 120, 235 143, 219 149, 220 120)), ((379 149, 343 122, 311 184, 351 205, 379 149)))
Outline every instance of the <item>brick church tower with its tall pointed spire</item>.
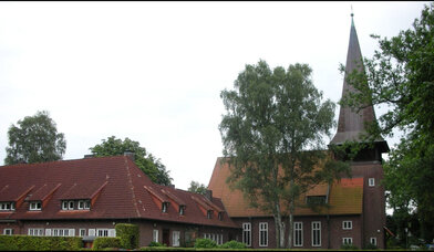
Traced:
MULTIPOLYGON (((345 74, 342 87, 342 97, 349 93, 358 92, 347 83, 347 76, 354 70, 364 73, 362 52, 359 45, 358 33, 351 13, 350 43, 347 54, 345 74)), ((374 107, 363 106, 356 112, 348 106, 341 106, 338 120, 338 132, 330 145, 343 145, 345 141, 363 144, 361 134, 366 133, 366 123, 376 123, 374 107)), ((388 153, 389 146, 383 138, 374 140, 373 145, 364 147, 351 160, 353 178, 363 178, 363 213, 362 213, 362 248, 369 243, 384 248, 385 225, 385 196, 383 179, 382 153, 388 153)))

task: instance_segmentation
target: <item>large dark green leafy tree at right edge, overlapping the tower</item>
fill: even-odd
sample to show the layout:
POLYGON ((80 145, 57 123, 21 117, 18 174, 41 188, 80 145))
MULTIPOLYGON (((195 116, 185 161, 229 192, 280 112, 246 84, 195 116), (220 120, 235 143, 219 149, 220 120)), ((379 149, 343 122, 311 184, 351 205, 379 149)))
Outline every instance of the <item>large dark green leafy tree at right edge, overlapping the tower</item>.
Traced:
MULTIPOLYGON (((379 125, 370 125, 370 136, 404 137, 384 166, 388 201, 396 212, 416 211, 426 240, 434 238, 434 4, 425 6, 413 28, 379 41, 380 51, 363 59, 365 73, 351 73, 348 83, 359 93, 341 104, 360 108, 366 102, 388 105, 379 125), (425 227, 424 227, 425 225, 425 227), (428 228, 428 227, 431 228, 428 228)), ((343 71, 343 69, 341 69, 343 71)))

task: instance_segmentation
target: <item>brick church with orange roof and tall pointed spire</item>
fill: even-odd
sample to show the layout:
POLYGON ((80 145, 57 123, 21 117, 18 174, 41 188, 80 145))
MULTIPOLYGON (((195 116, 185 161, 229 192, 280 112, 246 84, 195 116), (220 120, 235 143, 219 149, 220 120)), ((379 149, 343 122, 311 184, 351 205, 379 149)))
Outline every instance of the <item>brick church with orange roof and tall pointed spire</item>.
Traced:
MULTIPOLYGON (((345 73, 353 70, 363 71, 363 66, 356 64, 361 59, 362 53, 352 19, 345 73)), ((347 74, 342 96, 354 92, 345 80, 347 74)), ((375 120, 373 106, 366 106, 359 113, 341 106, 338 132, 330 144, 339 146, 347 140, 361 143, 359 136, 365 133, 364 123, 375 120)), ((376 139, 372 148, 362 149, 351 161, 351 178, 342 178, 331 187, 318 185, 303 196, 306 201, 312 197, 323 199, 329 208, 319 212, 309 208, 296 208, 292 248, 339 249, 342 244, 353 244, 362 249, 372 244, 384 249, 385 196, 381 183, 381 155, 388 151, 388 143, 384 139, 376 139)), ((208 189, 221 199, 228 214, 242 228, 242 242, 255 249, 277 248, 272 214, 249 208, 241 191, 231 191, 226 185, 229 174, 227 162, 221 162, 221 158, 218 158, 208 189)), ((285 233, 287 235, 288 228, 285 233)))

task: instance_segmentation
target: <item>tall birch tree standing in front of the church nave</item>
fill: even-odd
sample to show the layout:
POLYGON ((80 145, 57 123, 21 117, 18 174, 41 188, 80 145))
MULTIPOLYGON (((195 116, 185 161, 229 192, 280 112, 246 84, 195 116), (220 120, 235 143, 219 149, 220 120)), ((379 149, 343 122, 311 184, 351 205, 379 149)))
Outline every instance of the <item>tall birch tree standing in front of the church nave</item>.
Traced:
POLYGON ((231 167, 228 182, 244 192, 250 206, 273 216, 280 248, 285 246, 286 216, 288 246, 292 245, 294 200, 312 186, 330 181, 338 174, 333 171, 343 167, 330 165, 333 161, 321 150, 322 137, 335 125, 335 105, 321 102, 311 73, 307 64, 271 71, 259 61, 246 65, 235 90, 220 94, 227 111, 219 130, 231 167), (314 169, 321 162, 327 162, 323 169, 314 169))

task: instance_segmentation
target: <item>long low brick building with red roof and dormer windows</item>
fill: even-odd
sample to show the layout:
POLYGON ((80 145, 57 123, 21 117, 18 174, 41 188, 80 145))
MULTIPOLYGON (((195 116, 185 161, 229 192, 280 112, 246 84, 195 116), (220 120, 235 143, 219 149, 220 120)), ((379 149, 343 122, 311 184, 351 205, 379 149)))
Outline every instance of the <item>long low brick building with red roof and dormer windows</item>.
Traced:
POLYGON ((134 223, 141 246, 184 246, 239 233, 219 199, 155 185, 128 156, 3 166, 0 178, 1 234, 92 240, 134 223))

